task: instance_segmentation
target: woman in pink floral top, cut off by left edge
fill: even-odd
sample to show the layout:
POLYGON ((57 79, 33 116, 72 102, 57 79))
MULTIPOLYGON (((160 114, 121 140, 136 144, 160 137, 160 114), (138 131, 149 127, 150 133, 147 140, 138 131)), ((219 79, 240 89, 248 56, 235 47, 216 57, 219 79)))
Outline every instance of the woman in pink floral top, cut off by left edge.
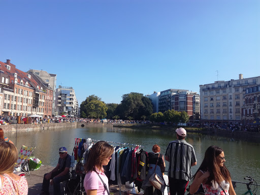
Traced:
POLYGON ((25 177, 13 173, 18 158, 14 144, 0 142, 0 194, 28 194, 28 184, 25 177))

